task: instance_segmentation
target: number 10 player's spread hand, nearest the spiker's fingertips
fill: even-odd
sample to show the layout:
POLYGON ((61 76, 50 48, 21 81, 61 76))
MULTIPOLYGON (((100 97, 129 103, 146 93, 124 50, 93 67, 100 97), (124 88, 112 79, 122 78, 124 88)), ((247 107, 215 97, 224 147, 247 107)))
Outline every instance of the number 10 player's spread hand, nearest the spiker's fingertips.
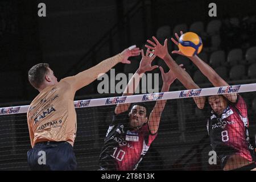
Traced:
POLYGON ((143 49, 141 49, 141 52, 142 52, 141 53, 142 59, 141 59, 141 63, 139 63, 139 69, 141 70, 141 72, 144 73, 144 72, 152 71, 155 68, 158 68, 158 65, 154 65, 154 66, 151 65, 151 63, 155 59, 156 55, 150 56, 149 48, 147 48, 146 55, 144 55, 143 49))

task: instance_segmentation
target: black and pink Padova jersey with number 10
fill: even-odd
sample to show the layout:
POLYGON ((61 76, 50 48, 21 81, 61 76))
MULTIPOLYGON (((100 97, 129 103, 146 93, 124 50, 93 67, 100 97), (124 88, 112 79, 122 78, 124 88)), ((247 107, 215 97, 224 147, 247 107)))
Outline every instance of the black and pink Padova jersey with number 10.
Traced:
POLYGON ((101 170, 131 171, 138 167, 157 134, 147 123, 134 131, 129 128, 129 112, 114 114, 100 154, 101 170))

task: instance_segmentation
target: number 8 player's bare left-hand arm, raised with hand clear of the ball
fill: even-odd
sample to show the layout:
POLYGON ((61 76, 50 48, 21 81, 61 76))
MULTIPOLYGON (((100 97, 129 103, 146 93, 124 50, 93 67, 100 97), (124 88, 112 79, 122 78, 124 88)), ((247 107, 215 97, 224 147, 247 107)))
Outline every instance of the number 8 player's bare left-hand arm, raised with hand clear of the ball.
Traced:
MULTIPOLYGON (((153 49, 155 55, 164 60, 168 67, 172 70, 177 79, 185 86, 187 89, 199 89, 200 87, 193 81, 191 76, 182 68, 177 65, 177 63, 172 59, 167 49, 167 39, 164 41, 164 46, 158 42, 158 40, 153 36, 155 43, 147 40, 151 46, 146 45, 147 48, 153 49)), ((205 97, 193 97, 193 100, 196 102, 199 109, 204 108, 205 97)))

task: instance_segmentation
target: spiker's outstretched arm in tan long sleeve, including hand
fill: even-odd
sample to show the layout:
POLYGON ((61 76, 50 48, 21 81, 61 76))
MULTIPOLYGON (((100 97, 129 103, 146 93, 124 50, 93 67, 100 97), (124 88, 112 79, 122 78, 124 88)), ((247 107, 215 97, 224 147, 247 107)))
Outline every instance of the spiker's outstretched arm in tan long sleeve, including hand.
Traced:
POLYGON ((138 56, 140 54, 139 48, 133 48, 133 49, 125 49, 123 52, 119 53, 118 55, 115 55, 113 57, 110 57, 104 61, 101 61, 101 63, 97 64, 96 66, 89 68, 85 71, 82 71, 78 73, 75 76, 64 78, 65 81, 68 81, 69 84, 72 85, 72 89, 74 91, 77 91, 81 89, 82 87, 90 84, 101 73, 108 72, 114 65, 118 63, 124 63, 124 64, 130 64, 130 61, 127 60, 130 56, 138 56))

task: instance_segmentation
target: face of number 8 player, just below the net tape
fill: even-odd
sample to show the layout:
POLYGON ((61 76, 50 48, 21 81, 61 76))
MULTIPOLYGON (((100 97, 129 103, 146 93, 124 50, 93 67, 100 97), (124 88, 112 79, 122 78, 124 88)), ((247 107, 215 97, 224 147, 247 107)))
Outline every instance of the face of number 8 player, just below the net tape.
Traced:
POLYGON ((226 100, 223 96, 210 96, 209 104, 212 107, 212 110, 218 115, 221 115, 226 109, 226 100))

